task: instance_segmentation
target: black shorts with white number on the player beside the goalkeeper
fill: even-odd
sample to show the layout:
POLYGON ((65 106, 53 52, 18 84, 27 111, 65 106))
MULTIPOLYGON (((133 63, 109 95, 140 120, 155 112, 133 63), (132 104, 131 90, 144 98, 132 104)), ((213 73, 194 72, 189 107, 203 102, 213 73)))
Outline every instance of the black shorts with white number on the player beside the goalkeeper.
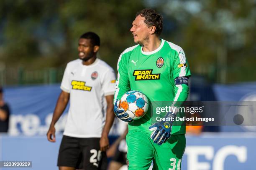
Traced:
POLYGON ((63 135, 58 166, 86 170, 106 170, 107 155, 100 151, 100 138, 74 138, 63 135))

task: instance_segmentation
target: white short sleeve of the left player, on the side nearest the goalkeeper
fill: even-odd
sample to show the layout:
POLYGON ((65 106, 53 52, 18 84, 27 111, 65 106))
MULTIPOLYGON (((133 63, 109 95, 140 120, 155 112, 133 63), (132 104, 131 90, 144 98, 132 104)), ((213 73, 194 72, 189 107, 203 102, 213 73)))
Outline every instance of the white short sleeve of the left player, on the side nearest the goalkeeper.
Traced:
POLYGON ((105 96, 115 93, 115 72, 112 68, 108 69, 102 77, 102 90, 105 96))

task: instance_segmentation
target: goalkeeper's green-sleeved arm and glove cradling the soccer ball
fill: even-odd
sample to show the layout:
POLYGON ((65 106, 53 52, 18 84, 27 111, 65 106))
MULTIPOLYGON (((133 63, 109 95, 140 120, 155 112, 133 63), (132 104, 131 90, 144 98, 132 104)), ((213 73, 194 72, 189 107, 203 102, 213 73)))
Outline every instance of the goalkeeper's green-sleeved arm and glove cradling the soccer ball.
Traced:
POLYGON ((116 80, 115 86, 115 95, 114 95, 114 112, 115 115, 125 121, 131 122, 133 121, 131 117, 128 117, 128 114, 123 109, 118 109, 120 99, 125 92, 131 90, 130 81, 128 79, 128 53, 121 54, 118 59, 118 77, 116 80))

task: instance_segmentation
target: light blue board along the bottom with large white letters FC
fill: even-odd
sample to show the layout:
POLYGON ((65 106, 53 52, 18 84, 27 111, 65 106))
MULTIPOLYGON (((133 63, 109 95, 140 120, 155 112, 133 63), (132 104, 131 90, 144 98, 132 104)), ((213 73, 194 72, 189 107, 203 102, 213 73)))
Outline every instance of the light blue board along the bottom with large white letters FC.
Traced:
MULTIPOLYGON (((56 136, 56 143, 47 141, 45 135, 0 135, 0 160, 31 161, 31 170, 57 170, 60 142, 61 135, 56 136)), ((174 170, 174 161, 180 161, 182 165, 177 167, 178 170, 254 170, 255 143, 255 133, 204 133, 200 136, 187 136, 182 161, 170 158, 170 166, 166 169, 174 170)))

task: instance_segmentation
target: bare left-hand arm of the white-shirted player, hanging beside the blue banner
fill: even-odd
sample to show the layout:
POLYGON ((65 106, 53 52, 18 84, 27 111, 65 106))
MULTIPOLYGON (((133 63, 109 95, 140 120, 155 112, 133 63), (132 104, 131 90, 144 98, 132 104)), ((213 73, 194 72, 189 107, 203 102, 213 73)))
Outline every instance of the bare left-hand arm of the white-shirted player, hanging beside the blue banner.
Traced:
POLYGON ((59 98, 57 100, 57 103, 56 103, 56 107, 54 109, 54 114, 53 114, 53 117, 51 120, 50 128, 47 132, 47 139, 50 142, 56 141, 54 125, 59 120, 59 117, 62 115, 62 113, 64 112, 65 108, 67 107, 68 102, 69 102, 69 93, 61 91, 59 98))

